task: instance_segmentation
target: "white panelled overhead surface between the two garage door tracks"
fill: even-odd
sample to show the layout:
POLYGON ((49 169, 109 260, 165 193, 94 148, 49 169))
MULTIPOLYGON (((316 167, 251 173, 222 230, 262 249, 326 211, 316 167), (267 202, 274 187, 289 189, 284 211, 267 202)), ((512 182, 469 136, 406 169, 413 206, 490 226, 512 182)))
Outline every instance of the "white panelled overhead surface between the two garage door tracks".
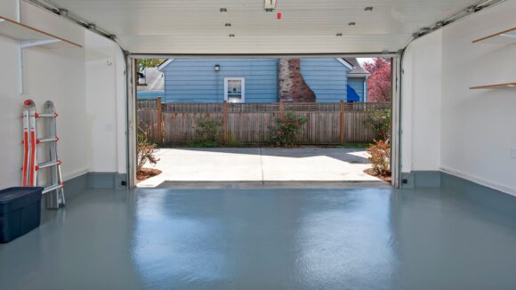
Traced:
POLYGON ((278 0, 276 12, 265 12, 263 0, 52 1, 117 35, 133 53, 395 52, 419 28, 478 2, 278 0))

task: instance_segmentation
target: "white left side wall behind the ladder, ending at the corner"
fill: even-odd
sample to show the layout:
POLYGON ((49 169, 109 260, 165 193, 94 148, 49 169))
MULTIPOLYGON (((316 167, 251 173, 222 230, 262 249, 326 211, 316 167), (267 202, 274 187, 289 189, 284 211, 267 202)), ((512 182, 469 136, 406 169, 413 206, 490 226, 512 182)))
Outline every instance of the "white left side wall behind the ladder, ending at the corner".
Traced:
MULTIPOLYGON (((15 1, 11 6, 15 7, 15 1)), ((4 11, 3 11, 4 12, 4 11)), ((12 14, 13 12, 7 14, 12 14)), ((72 25, 48 12, 22 3, 21 20, 38 28, 52 29, 58 36, 71 37, 84 43, 84 29, 72 25)), ((36 102, 42 109, 44 101, 52 100, 60 114, 58 133, 59 153, 63 160, 65 180, 88 170, 89 146, 85 115, 85 50, 81 48, 25 49, 24 71, 26 95, 19 93, 18 45, 0 36, 0 187, 20 185, 21 167, 21 105, 25 99, 36 102)))

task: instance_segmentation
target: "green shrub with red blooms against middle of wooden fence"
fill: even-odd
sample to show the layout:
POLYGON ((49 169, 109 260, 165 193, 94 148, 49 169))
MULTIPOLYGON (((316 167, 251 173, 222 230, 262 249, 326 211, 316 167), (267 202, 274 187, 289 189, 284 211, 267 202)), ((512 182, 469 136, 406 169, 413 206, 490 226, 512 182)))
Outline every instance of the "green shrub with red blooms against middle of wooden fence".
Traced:
POLYGON ((272 141, 276 146, 293 147, 306 121, 305 117, 297 117, 294 112, 287 111, 276 119, 276 127, 270 128, 272 141))

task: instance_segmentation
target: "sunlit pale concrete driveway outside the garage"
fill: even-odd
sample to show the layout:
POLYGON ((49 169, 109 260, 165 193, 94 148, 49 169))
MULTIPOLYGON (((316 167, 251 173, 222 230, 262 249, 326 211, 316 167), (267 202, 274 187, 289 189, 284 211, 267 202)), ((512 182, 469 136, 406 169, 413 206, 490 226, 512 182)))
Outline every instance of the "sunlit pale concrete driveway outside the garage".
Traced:
MULTIPOLYGON (((141 181, 152 188, 166 181, 381 181, 363 173, 364 149, 215 148, 157 149, 163 173, 141 181)), ((169 182, 170 183, 170 182, 169 182)))

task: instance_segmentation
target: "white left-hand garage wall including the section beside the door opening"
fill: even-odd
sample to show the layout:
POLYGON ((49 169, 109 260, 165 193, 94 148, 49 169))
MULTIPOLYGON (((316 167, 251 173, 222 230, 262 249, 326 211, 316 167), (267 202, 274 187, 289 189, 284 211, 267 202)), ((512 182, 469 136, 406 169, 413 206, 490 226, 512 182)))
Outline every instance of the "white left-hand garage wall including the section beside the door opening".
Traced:
MULTIPOLYGON (((0 15, 15 19, 17 5, 2 1, 0 15)), ((24 49, 26 93, 20 95, 18 44, 0 36, 0 188, 20 185, 25 99, 39 110, 44 101, 55 103, 65 181, 92 171, 125 173, 125 60, 117 45, 24 2, 21 21, 85 48, 24 49), (95 55, 99 50, 103 54, 95 55)))

